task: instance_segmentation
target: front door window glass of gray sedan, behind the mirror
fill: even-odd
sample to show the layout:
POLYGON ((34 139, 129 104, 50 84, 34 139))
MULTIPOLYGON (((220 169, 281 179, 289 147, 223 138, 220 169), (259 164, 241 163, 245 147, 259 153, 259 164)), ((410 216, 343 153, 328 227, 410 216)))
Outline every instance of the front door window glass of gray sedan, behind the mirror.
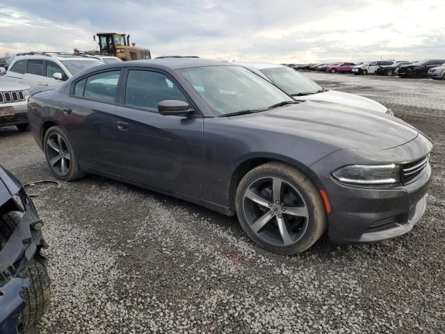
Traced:
POLYGON ((158 112, 163 100, 187 102, 181 90, 164 74, 143 70, 130 70, 125 89, 125 104, 129 107, 158 112))

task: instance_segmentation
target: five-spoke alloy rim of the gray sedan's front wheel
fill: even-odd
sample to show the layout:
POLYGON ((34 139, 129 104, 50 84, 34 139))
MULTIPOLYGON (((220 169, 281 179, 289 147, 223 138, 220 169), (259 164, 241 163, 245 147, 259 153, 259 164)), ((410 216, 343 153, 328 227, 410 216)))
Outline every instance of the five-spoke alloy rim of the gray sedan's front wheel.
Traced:
POLYGON ((273 246, 296 244, 305 235, 309 210, 300 192, 280 177, 261 177, 243 196, 243 214, 252 232, 273 246))

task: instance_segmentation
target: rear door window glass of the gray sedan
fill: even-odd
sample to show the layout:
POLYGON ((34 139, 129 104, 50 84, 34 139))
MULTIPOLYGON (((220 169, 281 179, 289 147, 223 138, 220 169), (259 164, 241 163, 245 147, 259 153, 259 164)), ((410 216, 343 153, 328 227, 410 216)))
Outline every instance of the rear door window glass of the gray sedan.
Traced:
MULTIPOLYGON (((83 97, 104 103, 114 103, 116 91, 118 90, 119 75, 120 70, 99 73, 88 77, 83 97)), ((80 83, 81 81, 78 84, 80 83)))

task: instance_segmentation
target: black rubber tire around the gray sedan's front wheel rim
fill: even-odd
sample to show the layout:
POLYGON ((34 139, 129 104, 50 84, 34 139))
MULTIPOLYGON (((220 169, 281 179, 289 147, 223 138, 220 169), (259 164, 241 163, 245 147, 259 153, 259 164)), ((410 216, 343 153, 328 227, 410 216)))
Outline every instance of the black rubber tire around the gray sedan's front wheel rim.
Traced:
MULTIPOLYGON (((270 210, 272 211, 272 209, 270 210)), ((295 255, 307 250, 307 248, 315 244, 327 227, 325 207, 316 186, 299 170, 280 162, 270 162, 258 166, 250 170, 250 172, 243 177, 238 184, 238 189, 236 189, 236 213, 241 227, 250 239, 270 252, 284 255, 295 255), (250 224, 246 218, 244 202, 246 191, 248 191, 254 182, 267 177, 278 177, 293 186, 307 207, 308 218, 305 231, 295 243, 289 244, 288 246, 271 244, 261 239, 261 237, 250 228, 250 224)))

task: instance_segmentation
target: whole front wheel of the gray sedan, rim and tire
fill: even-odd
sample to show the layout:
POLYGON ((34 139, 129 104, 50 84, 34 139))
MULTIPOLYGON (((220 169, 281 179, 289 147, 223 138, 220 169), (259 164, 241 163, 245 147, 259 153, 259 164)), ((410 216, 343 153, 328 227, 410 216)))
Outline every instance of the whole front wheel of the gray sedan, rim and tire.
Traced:
POLYGON ((243 177, 236 191, 241 227, 259 246, 294 255, 312 246, 326 229, 318 190, 296 168, 271 162, 243 177))

